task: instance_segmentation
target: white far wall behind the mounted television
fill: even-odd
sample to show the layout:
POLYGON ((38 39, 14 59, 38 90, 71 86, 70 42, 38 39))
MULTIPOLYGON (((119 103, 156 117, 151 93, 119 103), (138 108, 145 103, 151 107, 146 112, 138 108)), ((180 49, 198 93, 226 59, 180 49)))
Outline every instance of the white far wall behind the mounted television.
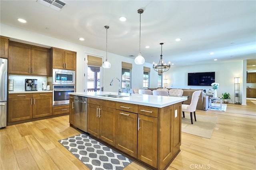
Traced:
MULTIPOLYGON (((168 79, 168 88, 172 85, 172 88, 206 89, 208 93, 212 86, 188 86, 188 73, 214 71, 215 82, 220 83, 217 90, 218 97, 222 97, 222 93, 230 93, 230 103, 234 103, 234 77, 241 77, 240 91, 242 94, 242 61, 172 67, 164 74, 164 79, 168 79)), ((242 102, 242 97, 240 101, 242 102)))

